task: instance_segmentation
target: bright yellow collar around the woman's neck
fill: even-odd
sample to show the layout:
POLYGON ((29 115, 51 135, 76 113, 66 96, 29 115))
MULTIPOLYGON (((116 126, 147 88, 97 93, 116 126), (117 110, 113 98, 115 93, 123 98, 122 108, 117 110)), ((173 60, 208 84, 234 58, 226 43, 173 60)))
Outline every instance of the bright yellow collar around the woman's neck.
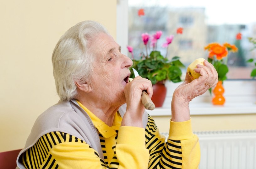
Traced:
POLYGON ((105 124, 105 122, 103 122, 101 119, 99 119, 97 116, 95 116, 88 108, 86 108, 78 100, 77 100, 77 103, 89 115, 95 128, 98 129, 98 131, 101 133, 101 135, 104 138, 109 138, 109 137, 117 134, 117 132, 115 130, 119 130, 121 121, 122 121, 122 117, 120 116, 120 114, 118 112, 116 112, 116 114, 115 114, 113 125, 111 127, 109 127, 107 124, 105 124))

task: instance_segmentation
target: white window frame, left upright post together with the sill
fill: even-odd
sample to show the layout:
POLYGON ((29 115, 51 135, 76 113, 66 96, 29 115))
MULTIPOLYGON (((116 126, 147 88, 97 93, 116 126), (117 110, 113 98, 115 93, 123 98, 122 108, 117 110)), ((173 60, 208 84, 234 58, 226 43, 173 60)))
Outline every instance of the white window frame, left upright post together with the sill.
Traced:
MULTIPOLYGON (((117 0, 117 43, 122 53, 128 56, 128 0, 117 0)), ((167 96, 163 107, 148 111, 152 116, 171 115, 171 100, 174 89, 180 83, 167 82, 167 96)), ((226 103, 214 106, 209 92, 193 99, 190 106, 191 115, 209 114, 256 114, 256 79, 224 81, 226 103)))

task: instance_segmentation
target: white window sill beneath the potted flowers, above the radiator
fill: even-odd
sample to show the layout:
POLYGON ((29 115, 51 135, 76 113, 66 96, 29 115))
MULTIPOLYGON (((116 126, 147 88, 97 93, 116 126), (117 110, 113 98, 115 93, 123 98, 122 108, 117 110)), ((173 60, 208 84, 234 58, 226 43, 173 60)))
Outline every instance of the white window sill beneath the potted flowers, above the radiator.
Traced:
MULTIPOLYGON (((151 116, 171 115, 172 93, 179 84, 167 82, 167 96, 163 107, 147 112, 151 116)), ((224 105, 213 105, 210 92, 206 92, 190 102, 190 114, 256 114, 256 80, 226 80, 224 88, 226 98, 224 105)))

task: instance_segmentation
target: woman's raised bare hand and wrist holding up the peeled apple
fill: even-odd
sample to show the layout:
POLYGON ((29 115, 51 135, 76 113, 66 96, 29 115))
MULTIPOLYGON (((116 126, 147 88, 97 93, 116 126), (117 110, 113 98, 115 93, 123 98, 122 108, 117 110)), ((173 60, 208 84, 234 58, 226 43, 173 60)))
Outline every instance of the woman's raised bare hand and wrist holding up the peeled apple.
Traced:
POLYGON ((208 61, 204 61, 204 65, 197 65, 194 69, 195 72, 200 73, 200 77, 195 80, 191 80, 186 73, 184 82, 179 85, 172 96, 172 121, 186 121, 190 119, 189 116, 189 102, 202 94, 204 94, 209 88, 209 85, 205 85, 205 82, 215 86, 218 82, 218 73, 214 66, 208 61))

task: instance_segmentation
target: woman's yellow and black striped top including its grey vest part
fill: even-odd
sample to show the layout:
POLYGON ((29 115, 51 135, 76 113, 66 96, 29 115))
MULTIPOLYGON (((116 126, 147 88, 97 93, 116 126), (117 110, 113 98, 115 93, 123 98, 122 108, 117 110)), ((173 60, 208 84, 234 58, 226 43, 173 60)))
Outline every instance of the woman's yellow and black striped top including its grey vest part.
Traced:
POLYGON ((113 126, 109 127, 76 101, 52 106, 36 120, 25 149, 18 156, 18 166, 90 169, 198 167, 200 148, 198 137, 191 129, 191 120, 170 120, 169 137, 165 143, 165 137, 160 135, 152 117, 145 116, 145 128, 120 127, 120 115, 125 107, 119 111, 120 114, 115 114, 113 126), (85 123, 88 118, 94 126, 87 125, 90 120, 85 123), (65 129, 70 132, 65 132, 65 129), (83 132, 88 134, 87 130, 94 130, 98 141, 94 135, 84 135, 83 132), (94 142, 98 142, 96 146, 94 142))

